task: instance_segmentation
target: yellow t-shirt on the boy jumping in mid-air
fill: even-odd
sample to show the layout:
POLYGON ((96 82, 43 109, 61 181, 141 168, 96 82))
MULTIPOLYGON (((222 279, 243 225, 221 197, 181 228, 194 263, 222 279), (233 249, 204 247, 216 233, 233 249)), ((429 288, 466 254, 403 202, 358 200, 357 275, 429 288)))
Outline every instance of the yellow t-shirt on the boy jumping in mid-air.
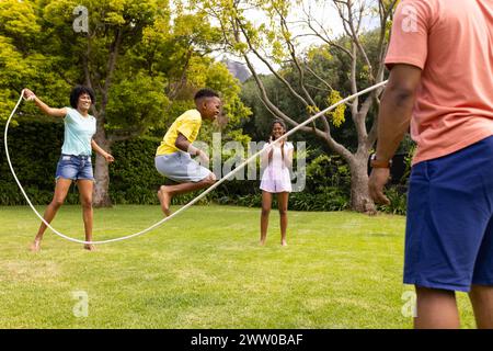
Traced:
POLYGON ((194 143, 197 138, 198 131, 200 131, 200 112, 195 109, 186 111, 184 114, 177 117, 176 121, 174 121, 171 127, 168 129, 164 138, 161 141, 161 145, 156 151, 156 156, 170 155, 179 151, 180 149, 174 146, 179 133, 183 134, 190 143, 194 143))

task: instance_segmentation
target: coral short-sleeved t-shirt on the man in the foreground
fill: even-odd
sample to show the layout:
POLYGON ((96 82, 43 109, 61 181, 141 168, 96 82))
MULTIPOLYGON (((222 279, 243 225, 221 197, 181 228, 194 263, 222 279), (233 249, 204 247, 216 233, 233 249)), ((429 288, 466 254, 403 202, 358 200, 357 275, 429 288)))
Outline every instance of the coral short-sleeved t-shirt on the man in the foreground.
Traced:
POLYGON ((493 0, 402 0, 386 65, 423 70, 413 165, 493 135, 493 0))

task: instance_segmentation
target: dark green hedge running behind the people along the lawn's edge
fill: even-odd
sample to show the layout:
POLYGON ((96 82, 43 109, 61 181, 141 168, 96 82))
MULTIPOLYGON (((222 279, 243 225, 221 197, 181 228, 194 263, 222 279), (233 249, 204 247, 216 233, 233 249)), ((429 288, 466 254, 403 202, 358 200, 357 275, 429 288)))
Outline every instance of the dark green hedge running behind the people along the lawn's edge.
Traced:
MULTIPOLYGON (((3 125, 0 125, 3 129, 3 125)), ((64 136, 60 121, 22 121, 9 129, 9 150, 14 170, 35 204, 48 204, 55 186, 55 170, 64 136)), ((0 137, 3 145, 3 135, 0 137)), ((116 161, 110 167, 110 195, 114 204, 158 204, 156 191, 168 182, 154 168, 153 157, 160 138, 140 137, 115 143, 116 161)), ((226 157, 226 156, 225 156, 226 157)), ((225 159, 225 158, 223 158, 225 159)), ((295 166, 295 170, 296 170, 295 166)), ((0 205, 23 205, 25 200, 10 174, 4 154, 0 154, 0 205)), ((257 178, 259 179, 259 178, 257 178)), ((390 206, 381 210, 405 213, 405 181, 399 180, 389 192, 390 206)), ((215 202, 249 207, 261 206, 259 180, 227 181, 203 203, 215 202)), ((328 156, 314 149, 307 151, 306 188, 290 195, 289 208, 297 211, 342 211, 349 204, 351 176, 339 156, 328 156)), ((190 193, 173 199, 184 204, 195 197, 190 193)), ((66 203, 79 203, 72 188, 66 203)))

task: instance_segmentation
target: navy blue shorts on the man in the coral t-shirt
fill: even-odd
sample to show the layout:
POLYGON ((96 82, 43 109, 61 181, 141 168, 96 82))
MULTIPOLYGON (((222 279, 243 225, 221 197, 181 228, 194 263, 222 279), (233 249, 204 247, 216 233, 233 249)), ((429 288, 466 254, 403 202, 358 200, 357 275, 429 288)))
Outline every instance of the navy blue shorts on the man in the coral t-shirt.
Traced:
POLYGON ((404 283, 493 285, 493 136, 412 168, 404 283))

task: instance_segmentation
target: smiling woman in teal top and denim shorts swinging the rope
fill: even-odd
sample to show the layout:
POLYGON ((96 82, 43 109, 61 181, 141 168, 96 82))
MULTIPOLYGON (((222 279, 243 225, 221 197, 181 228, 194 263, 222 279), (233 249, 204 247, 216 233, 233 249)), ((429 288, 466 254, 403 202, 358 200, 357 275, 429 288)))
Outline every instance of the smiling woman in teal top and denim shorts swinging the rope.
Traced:
MULTIPOLYGON (((93 139, 96 132, 96 120, 89 114, 89 109, 95 102, 92 89, 78 86, 70 93, 71 107, 53 109, 41 101, 31 90, 24 90, 24 97, 32 100, 47 115, 64 118, 65 138, 61 156, 57 165, 55 194, 45 211, 44 218, 50 223, 64 204, 72 181, 79 189, 85 229, 85 241, 92 241, 92 189, 94 177, 91 165, 92 150, 103 156, 107 162, 114 158, 104 151, 93 139)), ((39 230, 31 245, 31 250, 39 251, 41 240, 46 225, 41 224, 39 230)), ((92 245, 84 245, 87 250, 93 250, 92 245)))

